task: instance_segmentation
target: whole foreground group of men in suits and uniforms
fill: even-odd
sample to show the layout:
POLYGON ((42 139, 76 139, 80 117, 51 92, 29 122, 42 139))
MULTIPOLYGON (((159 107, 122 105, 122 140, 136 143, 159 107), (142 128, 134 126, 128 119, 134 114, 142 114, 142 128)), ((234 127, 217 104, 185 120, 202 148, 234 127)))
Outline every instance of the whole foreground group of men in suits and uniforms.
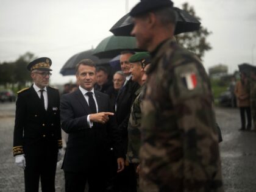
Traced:
POLYGON ((210 80, 176 43, 172 1, 142 0, 130 16, 148 52, 121 52, 113 78, 83 59, 60 97, 48 86, 51 59, 27 66, 34 84, 18 93, 13 138, 25 191, 38 191, 39 180, 55 191, 61 129, 65 191, 224 191, 210 80))

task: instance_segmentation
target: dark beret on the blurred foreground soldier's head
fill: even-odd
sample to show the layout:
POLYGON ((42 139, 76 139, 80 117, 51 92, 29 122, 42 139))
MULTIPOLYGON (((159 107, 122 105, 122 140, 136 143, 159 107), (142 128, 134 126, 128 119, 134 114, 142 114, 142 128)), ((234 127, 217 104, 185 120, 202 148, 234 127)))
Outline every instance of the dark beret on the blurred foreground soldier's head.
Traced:
POLYGON ((173 7, 173 2, 170 0, 141 0, 130 11, 130 16, 139 16, 153 10, 161 9, 163 7, 173 7))

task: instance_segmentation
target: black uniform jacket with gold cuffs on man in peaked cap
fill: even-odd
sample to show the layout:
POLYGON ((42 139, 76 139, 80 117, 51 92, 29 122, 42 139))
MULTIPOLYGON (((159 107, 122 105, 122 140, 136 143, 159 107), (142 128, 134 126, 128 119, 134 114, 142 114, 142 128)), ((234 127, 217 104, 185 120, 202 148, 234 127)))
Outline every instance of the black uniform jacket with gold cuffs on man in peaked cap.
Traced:
POLYGON ((13 155, 57 154, 62 148, 60 129, 60 96, 47 87, 48 110, 44 109, 33 87, 18 93, 16 101, 13 155))

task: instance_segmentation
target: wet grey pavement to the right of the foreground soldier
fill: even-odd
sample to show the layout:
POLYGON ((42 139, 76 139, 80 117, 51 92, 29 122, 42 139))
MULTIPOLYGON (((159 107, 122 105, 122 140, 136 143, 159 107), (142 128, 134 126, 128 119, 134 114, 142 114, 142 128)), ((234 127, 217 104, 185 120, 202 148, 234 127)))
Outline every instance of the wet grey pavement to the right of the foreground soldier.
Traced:
POLYGON ((217 108, 216 118, 222 129, 220 144, 222 174, 226 192, 256 191, 256 132, 240 132, 239 110, 217 108))

